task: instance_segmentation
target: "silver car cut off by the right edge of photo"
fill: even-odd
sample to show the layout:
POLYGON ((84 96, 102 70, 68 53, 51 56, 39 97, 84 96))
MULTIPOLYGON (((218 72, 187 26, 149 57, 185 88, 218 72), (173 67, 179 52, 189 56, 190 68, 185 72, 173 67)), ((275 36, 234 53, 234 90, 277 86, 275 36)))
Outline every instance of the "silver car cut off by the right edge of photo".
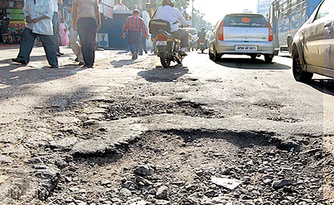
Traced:
POLYGON ((324 0, 298 30, 291 45, 293 76, 307 83, 313 73, 334 77, 334 1, 324 0))

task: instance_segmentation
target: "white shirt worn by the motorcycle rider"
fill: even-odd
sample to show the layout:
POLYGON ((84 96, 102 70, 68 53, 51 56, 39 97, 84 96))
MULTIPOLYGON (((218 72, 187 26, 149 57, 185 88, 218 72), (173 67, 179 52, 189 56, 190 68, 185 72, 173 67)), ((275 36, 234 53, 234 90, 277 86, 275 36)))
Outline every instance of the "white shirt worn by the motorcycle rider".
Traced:
POLYGON ((184 19, 180 10, 171 7, 170 5, 159 7, 154 18, 169 22, 171 25, 171 32, 175 32, 179 29, 179 25, 177 24, 178 22, 180 22, 183 26, 188 25, 187 20, 184 19))

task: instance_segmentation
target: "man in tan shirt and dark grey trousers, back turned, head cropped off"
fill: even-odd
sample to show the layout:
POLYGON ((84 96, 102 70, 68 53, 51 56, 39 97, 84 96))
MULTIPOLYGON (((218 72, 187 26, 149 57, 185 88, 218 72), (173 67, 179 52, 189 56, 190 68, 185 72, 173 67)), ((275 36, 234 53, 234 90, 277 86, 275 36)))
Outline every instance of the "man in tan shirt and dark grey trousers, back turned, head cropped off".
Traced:
POLYGON ((95 60, 96 33, 101 28, 98 0, 73 0, 73 23, 80 36, 85 65, 92 68, 95 60))

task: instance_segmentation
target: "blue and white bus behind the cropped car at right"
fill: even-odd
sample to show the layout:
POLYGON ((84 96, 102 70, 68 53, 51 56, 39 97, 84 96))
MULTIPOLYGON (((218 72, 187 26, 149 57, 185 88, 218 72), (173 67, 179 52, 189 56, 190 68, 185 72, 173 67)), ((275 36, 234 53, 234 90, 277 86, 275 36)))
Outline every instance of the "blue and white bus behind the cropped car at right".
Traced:
POLYGON ((321 2, 322 0, 274 0, 271 3, 269 22, 277 50, 290 51, 294 34, 321 2))

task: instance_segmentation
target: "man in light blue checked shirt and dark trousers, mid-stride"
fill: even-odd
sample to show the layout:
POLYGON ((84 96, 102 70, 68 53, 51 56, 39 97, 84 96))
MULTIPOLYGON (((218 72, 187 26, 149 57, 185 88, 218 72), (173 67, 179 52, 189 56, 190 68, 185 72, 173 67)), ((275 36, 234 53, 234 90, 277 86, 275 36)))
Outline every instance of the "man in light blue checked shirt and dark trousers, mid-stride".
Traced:
POLYGON ((36 37, 39 37, 51 68, 58 68, 56 46, 53 41, 52 2, 45 0, 26 0, 23 13, 28 23, 21 36, 20 52, 13 62, 27 65, 36 37), (38 6, 36 6, 38 5, 38 6))

